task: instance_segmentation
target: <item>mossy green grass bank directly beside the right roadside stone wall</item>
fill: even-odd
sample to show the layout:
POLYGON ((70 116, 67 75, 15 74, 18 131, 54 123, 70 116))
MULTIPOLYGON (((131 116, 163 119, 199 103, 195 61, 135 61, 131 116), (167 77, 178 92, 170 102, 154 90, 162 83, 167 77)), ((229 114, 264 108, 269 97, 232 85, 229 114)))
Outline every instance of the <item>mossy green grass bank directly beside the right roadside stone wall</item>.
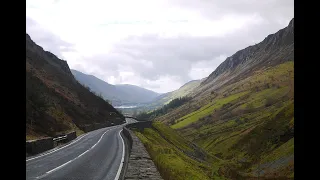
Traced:
MULTIPOLYGON (((186 179, 210 179, 211 170, 207 164, 200 163, 183 152, 181 152, 172 142, 178 142, 181 137, 174 134, 170 128, 165 128, 161 124, 155 124, 157 130, 146 128, 143 132, 135 131, 135 134, 142 141, 155 165, 157 166, 161 176, 165 180, 186 180, 186 179), (166 135, 173 135, 169 142, 165 140, 158 132, 166 135), (175 140, 174 140, 175 139, 175 140)), ((179 142, 180 148, 185 148, 189 144, 183 140, 179 142)), ((190 149, 186 148, 187 149, 190 149)))

